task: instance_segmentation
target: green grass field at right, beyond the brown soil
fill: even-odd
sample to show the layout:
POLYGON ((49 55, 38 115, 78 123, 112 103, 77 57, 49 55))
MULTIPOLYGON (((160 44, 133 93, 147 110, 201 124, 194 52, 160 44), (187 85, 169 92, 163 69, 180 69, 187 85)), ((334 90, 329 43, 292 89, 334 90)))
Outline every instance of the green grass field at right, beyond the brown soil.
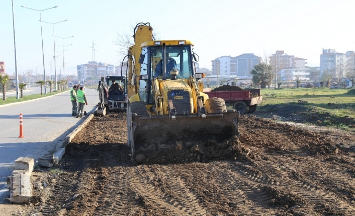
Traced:
POLYGON ((265 117, 278 115, 285 120, 355 128, 355 90, 327 88, 262 89, 257 112, 265 117))

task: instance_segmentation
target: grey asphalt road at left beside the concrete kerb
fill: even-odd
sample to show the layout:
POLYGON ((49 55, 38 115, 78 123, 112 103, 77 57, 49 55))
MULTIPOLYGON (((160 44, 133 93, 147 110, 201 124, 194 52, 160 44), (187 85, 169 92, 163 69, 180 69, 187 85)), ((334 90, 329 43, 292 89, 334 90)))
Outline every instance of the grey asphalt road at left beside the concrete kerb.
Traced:
MULTIPOLYGON (((96 109, 99 95, 96 89, 85 89, 85 92, 87 117, 96 109)), ((0 106, 0 203, 10 195, 6 180, 11 176, 16 159, 32 157, 37 161, 53 153, 56 145, 84 121, 86 117, 71 116, 71 109, 69 91, 0 106), (19 138, 20 113, 23 114, 23 138, 19 138)))

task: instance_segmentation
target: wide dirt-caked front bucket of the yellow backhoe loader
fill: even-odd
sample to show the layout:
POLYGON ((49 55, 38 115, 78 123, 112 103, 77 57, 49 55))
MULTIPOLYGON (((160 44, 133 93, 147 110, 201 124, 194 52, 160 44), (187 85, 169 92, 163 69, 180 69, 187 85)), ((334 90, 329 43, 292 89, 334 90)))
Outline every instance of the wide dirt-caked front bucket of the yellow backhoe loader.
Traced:
POLYGON ((197 114, 169 115, 133 115, 127 119, 131 158, 139 154, 149 155, 161 151, 188 150, 194 142, 215 140, 217 142, 239 136, 239 112, 206 114, 206 118, 197 114))

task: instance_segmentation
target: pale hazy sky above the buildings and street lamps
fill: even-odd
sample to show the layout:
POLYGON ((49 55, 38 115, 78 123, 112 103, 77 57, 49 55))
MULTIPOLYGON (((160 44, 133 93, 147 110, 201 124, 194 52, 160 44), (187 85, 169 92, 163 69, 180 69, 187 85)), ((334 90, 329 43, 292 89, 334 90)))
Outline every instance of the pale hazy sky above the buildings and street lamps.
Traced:
POLYGON ((323 48, 355 51, 353 0, 13 0, 13 4, 14 20, 12 1, 1 0, 0 61, 9 75, 15 74, 14 23, 18 74, 27 70, 43 74, 38 11, 55 6, 41 12, 42 21, 57 23, 42 23, 47 75, 54 75, 54 55, 56 73, 63 74, 63 45, 65 75, 74 75, 77 65, 93 61, 93 43, 95 61, 118 66, 122 56, 114 41, 118 33, 133 35, 137 23, 150 23, 161 40, 191 40, 200 68, 211 69, 211 60, 221 56, 253 53, 264 58, 278 50, 307 59, 307 66, 314 67, 319 66, 323 48))

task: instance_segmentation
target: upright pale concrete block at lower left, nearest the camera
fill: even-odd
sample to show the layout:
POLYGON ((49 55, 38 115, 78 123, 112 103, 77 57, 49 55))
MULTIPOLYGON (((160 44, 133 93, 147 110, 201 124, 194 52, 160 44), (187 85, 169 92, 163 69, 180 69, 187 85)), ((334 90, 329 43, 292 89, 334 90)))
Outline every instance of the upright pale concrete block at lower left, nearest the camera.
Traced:
POLYGON ((29 203, 31 192, 31 175, 28 170, 14 170, 11 174, 10 203, 29 203))

